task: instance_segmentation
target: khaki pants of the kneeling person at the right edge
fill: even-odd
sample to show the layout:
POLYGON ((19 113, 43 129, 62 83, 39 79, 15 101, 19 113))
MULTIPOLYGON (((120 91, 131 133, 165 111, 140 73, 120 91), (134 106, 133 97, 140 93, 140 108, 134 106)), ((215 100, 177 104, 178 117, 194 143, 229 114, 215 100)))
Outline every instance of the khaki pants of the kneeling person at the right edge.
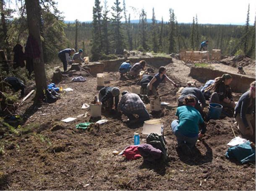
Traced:
POLYGON ((239 114, 237 114, 235 120, 238 122, 238 129, 243 135, 253 136, 253 134, 255 133, 255 116, 253 114, 246 114, 246 120, 249 124, 248 127, 244 125, 242 118, 239 114))

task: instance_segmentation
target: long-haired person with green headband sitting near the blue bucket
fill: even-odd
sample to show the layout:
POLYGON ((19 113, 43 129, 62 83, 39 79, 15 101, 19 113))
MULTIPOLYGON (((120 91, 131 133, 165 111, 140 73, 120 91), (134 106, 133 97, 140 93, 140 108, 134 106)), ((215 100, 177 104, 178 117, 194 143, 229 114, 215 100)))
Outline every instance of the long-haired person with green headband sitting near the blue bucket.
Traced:
POLYGON ((215 78, 214 83, 204 90, 204 92, 210 90, 212 93, 209 103, 219 103, 226 108, 235 108, 230 88, 231 82, 230 74, 223 74, 222 77, 215 78))

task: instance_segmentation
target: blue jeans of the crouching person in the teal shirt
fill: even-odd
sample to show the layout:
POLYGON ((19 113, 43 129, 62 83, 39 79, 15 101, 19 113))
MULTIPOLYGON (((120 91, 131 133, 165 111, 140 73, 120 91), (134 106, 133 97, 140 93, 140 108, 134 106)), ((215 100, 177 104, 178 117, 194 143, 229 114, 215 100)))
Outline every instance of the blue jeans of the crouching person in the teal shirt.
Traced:
POLYGON ((172 124, 171 124, 172 132, 173 132, 173 134, 175 134, 175 136, 177 138, 178 145, 180 145, 182 143, 185 143, 186 145, 188 145, 191 148, 194 147, 196 145, 196 141, 198 139, 198 136, 196 136, 196 137, 186 137, 185 135, 183 135, 182 133, 177 131, 178 125, 179 125, 178 120, 172 121, 172 124))

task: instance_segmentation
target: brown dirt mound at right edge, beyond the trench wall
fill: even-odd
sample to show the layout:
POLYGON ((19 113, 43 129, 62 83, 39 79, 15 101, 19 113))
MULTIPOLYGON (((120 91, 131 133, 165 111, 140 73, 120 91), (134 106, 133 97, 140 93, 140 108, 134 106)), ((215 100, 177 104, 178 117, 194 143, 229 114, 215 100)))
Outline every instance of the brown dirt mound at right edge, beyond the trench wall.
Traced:
POLYGON ((222 64, 229 65, 232 67, 238 67, 238 66, 255 67, 255 60, 251 59, 250 57, 247 57, 246 55, 237 55, 237 56, 228 57, 228 58, 222 59, 220 62, 222 64))

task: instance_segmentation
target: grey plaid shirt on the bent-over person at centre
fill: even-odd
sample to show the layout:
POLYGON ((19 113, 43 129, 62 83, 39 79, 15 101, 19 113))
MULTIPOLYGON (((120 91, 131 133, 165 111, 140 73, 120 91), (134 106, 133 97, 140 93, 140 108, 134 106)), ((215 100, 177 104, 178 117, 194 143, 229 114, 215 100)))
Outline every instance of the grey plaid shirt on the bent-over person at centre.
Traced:
POLYGON ((124 108, 127 111, 145 109, 144 103, 136 93, 126 93, 118 103, 118 109, 124 108))

